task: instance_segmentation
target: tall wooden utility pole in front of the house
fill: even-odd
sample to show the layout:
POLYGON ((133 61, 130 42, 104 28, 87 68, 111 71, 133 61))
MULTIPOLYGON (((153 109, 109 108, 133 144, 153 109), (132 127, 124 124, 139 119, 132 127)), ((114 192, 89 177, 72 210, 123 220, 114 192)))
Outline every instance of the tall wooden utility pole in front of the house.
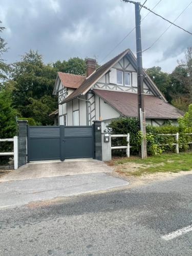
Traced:
POLYGON ((136 49, 137 49, 137 95, 138 95, 138 117, 141 131, 141 157, 147 157, 146 151, 146 125, 145 125, 145 106, 143 92, 143 66, 142 66, 142 47, 141 47, 141 16, 140 3, 123 0, 135 4, 135 26, 136 26, 136 49))

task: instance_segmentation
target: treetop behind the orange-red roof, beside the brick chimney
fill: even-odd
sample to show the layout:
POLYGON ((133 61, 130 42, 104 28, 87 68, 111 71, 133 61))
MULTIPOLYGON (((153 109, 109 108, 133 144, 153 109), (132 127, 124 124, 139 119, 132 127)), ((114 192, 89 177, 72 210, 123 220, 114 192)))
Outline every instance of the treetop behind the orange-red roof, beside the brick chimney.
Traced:
POLYGON ((75 57, 69 60, 57 60, 53 63, 53 67, 57 72, 64 72, 75 75, 85 75, 86 74, 86 61, 84 59, 75 57))

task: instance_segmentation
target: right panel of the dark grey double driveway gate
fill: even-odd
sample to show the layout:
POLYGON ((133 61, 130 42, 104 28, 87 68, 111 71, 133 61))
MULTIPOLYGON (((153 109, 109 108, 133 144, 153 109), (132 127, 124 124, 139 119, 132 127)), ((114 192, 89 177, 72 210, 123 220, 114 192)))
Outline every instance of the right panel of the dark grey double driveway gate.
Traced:
POLYGON ((92 126, 65 126, 64 138, 65 159, 94 157, 92 126))

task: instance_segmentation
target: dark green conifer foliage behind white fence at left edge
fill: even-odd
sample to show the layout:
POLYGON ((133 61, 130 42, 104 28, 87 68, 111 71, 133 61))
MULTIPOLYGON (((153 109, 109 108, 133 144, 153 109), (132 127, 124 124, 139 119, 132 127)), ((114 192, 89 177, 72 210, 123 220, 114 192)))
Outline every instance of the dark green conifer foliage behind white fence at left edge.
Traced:
MULTIPOLYGON (((16 110, 11 106, 10 94, 0 91, 0 138, 13 138, 16 135, 16 110)), ((0 152, 11 152, 13 142, 0 142, 0 152)), ((0 163, 8 162, 10 156, 0 156, 0 163)))

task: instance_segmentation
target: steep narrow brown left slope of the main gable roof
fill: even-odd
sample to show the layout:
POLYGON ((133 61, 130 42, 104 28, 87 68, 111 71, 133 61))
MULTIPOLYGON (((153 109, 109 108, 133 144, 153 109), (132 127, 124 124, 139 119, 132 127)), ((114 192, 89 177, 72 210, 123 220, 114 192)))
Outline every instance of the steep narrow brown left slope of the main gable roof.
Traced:
POLYGON ((121 58, 122 56, 124 56, 124 54, 126 54, 127 52, 129 52, 129 49, 126 49, 125 51, 123 51, 122 53, 120 53, 119 55, 117 55, 115 58, 111 59, 110 61, 106 62, 104 65, 102 65, 101 67, 99 67, 96 72, 94 72, 91 76, 89 76, 86 80, 84 80, 81 84, 81 86, 75 90, 72 94, 70 94, 65 100, 64 102, 70 101, 71 99, 74 99, 78 96, 80 96, 82 93, 84 93, 86 90, 89 90, 90 86, 92 86, 92 84, 97 81, 97 79, 103 75, 103 73, 105 73, 109 68, 111 68, 111 66, 114 65, 114 63, 121 58))

